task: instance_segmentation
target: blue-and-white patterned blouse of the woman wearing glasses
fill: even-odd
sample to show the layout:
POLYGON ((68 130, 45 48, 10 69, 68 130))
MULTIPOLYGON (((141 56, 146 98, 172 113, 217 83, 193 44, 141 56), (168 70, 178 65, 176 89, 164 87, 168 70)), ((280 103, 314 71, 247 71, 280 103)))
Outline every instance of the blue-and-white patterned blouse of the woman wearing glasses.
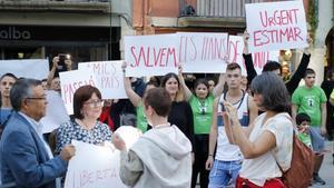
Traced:
POLYGON ((111 141, 111 130, 108 125, 100 121, 97 121, 91 130, 87 130, 76 120, 70 120, 60 125, 57 130, 56 152, 60 152, 65 145, 71 144, 71 140, 98 145, 105 141, 111 141))

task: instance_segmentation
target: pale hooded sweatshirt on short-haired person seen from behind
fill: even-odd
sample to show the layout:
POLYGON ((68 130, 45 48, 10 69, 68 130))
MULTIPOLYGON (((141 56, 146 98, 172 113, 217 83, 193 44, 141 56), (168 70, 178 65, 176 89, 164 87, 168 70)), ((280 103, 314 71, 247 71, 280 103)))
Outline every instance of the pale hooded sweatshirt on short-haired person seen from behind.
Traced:
POLYGON ((135 188, 189 188, 191 144, 176 127, 147 131, 126 154, 120 178, 135 188))

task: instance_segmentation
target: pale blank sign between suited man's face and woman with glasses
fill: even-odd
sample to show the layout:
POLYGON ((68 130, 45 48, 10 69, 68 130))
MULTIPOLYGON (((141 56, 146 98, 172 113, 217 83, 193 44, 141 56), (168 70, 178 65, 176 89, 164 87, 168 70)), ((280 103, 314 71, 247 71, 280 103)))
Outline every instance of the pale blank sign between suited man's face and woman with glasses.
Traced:
POLYGON ((53 90, 47 90, 47 112, 40 120, 42 123, 42 132, 48 133, 57 129, 62 122, 69 120, 65 105, 61 100, 60 93, 53 90))

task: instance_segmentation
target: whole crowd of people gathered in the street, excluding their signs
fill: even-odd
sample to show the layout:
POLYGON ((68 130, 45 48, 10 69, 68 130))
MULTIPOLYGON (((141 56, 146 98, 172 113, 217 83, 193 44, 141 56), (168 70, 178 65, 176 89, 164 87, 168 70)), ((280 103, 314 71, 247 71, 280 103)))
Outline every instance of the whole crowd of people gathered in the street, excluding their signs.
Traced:
MULTIPOLYGON (((284 187, 279 177, 291 166, 294 131, 316 152, 311 184, 325 185, 318 171, 325 137, 333 139, 334 71, 315 86, 305 49, 287 82, 276 61, 257 76, 244 37, 247 77, 230 62, 218 80, 189 81, 179 65, 178 75, 146 83, 125 77, 128 99, 120 100, 102 99, 98 88, 84 86, 73 95, 70 120, 51 133, 41 131, 39 120, 46 116, 46 90, 60 95, 59 57, 45 80, 1 76, 2 185, 61 187, 75 139, 100 146, 112 140, 121 151, 120 178, 131 187, 195 187, 198 175, 200 187, 284 187), (120 126, 137 127, 144 136, 126 148, 112 135, 120 126)), ((71 70, 71 60, 65 65, 71 70)))

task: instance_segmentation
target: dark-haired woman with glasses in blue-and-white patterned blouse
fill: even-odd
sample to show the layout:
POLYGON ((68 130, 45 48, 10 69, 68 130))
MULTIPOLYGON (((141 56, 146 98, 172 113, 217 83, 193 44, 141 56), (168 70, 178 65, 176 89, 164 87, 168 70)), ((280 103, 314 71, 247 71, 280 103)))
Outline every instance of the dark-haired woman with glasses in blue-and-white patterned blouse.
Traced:
POLYGON ((56 152, 71 140, 92 145, 111 141, 111 130, 98 120, 104 107, 101 92, 92 86, 78 88, 73 96, 73 118, 57 130, 56 152))

